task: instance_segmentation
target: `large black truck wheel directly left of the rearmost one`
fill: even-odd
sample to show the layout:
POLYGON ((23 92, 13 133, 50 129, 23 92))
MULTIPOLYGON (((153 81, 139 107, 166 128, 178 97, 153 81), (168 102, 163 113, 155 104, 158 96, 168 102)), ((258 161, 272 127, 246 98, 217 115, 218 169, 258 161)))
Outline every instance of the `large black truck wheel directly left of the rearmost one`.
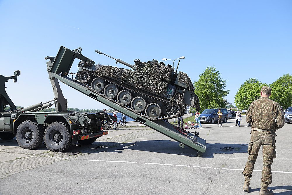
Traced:
POLYGON ((16 140, 23 149, 35 149, 43 143, 44 131, 35 121, 26 120, 17 128, 16 140))

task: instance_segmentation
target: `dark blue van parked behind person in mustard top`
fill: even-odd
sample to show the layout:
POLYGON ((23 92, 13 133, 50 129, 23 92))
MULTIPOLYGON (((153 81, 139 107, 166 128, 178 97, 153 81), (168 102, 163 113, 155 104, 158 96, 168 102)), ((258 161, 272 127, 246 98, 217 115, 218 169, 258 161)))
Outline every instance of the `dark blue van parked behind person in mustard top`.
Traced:
MULTIPOLYGON (((201 122, 208 122, 211 124, 214 124, 216 121, 218 121, 218 108, 212 108, 212 109, 206 109, 201 113, 200 121, 201 122)), ((222 121, 227 122, 228 120, 228 112, 226 108, 221 108, 222 112, 222 121)))

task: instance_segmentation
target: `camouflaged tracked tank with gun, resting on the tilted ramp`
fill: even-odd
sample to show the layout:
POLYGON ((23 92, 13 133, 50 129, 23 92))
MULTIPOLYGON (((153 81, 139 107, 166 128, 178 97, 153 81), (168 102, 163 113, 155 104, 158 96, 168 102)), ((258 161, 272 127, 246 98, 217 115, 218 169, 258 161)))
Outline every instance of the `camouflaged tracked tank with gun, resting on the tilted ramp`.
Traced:
POLYGON ((81 61, 75 79, 119 106, 149 120, 181 116, 186 106, 200 109, 198 96, 186 73, 177 73, 171 65, 158 63, 157 60, 141 62, 135 59, 135 64, 130 65, 120 59, 113 59, 133 70, 81 61))

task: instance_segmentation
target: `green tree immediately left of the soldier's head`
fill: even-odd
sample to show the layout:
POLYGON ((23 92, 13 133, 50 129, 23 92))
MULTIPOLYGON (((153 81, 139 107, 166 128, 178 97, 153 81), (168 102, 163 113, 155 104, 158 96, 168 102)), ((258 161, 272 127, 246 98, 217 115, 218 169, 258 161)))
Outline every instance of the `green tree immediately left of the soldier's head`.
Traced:
POLYGON ((252 101, 260 98, 260 90, 263 86, 268 86, 259 82, 256 78, 250 78, 240 85, 234 103, 239 110, 246 110, 252 101))

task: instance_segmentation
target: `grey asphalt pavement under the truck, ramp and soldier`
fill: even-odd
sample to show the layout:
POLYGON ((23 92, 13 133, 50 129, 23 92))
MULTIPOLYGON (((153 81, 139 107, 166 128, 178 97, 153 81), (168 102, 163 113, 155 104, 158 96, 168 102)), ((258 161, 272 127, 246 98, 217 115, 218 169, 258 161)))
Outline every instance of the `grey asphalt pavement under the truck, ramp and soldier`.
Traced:
MULTIPOLYGON (((259 194, 260 150, 251 192, 242 191, 250 127, 235 119, 202 124, 207 150, 196 151, 149 127, 119 126, 89 146, 65 153, 24 150, 15 139, 0 141, 0 194, 259 194), (76 154, 76 155, 73 155, 76 154)), ((292 124, 277 130, 272 164, 275 194, 292 194, 292 124)))

